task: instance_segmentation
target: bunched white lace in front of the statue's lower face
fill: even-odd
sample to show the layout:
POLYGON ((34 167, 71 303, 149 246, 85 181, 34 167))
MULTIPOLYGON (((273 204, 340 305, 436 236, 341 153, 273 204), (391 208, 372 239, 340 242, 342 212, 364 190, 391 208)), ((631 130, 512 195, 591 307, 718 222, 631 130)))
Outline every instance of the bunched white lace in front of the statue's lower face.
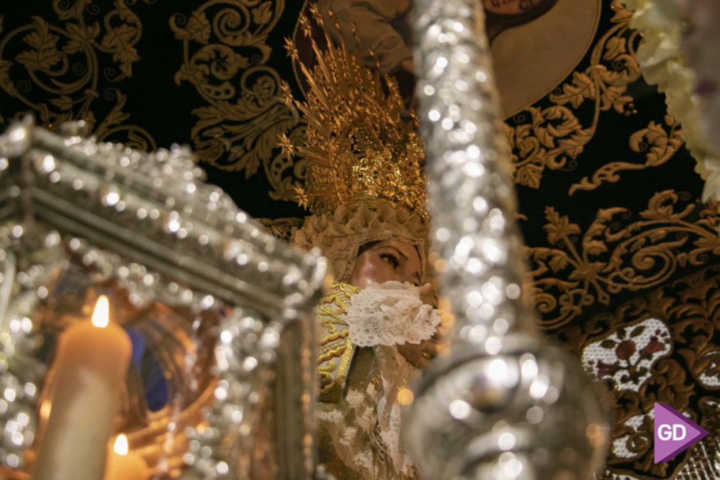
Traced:
POLYGON ((346 321, 351 341, 359 347, 420 343, 435 333, 438 311, 420 300, 410 283, 370 285, 353 295, 346 321))

